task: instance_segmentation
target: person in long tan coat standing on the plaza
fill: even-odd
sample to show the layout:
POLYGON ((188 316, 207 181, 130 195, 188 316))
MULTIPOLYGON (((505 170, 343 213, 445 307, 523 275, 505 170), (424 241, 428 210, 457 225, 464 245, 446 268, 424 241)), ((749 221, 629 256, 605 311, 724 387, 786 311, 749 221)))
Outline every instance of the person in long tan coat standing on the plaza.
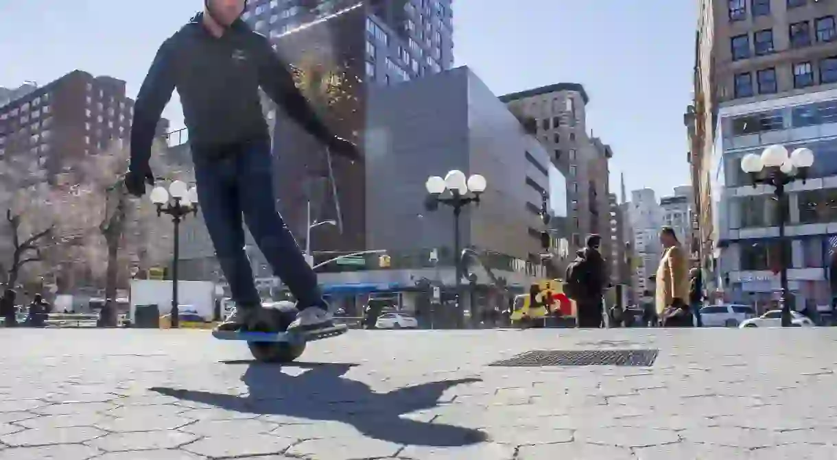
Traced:
POLYGON ((672 227, 660 230, 664 252, 657 268, 655 304, 663 327, 691 327, 695 325, 689 299, 689 271, 686 254, 680 247, 672 227))

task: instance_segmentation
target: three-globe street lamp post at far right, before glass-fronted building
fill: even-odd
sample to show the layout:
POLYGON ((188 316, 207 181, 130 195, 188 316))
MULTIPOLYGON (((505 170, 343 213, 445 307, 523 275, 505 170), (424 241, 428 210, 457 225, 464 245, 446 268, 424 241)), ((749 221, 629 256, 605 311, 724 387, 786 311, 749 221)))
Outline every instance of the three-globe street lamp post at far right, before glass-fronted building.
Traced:
POLYGON ((788 302, 788 260, 785 224, 788 219, 788 196, 785 186, 801 180, 805 182, 811 165, 814 164, 814 152, 806 148, 796 149, 788 155, 784 146, 769 146, 761 155, 755 153, 744 156, 741 169, 750 175, 752 187, 757 184, 773 186, 773 193, 778 202, 779 225, 779 284, 781 287, 782 326, 792 325, 790 303, 788 302))

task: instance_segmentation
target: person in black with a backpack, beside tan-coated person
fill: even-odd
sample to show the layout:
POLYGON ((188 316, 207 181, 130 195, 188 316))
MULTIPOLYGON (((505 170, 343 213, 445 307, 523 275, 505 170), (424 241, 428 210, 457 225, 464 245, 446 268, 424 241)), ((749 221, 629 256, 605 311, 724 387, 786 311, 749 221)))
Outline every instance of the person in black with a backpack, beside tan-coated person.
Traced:
POLYGON ((603 326, 602 296, 607 286, 604 259, 598 249, 602 237, 592 234, 585 247, 567 267, 564 293, 576 302, 576 326, 601 328, 603 326))

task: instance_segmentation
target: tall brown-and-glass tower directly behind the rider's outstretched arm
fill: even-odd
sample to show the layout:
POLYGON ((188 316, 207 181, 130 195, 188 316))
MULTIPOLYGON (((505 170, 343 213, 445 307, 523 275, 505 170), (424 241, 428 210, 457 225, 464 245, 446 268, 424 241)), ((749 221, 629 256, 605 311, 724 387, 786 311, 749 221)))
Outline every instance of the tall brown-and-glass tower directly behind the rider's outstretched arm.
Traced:
MULTIPOLYGON (((337 135, 362 146, 367 84, 398 84, 453 66, 452 0, 250 0, 244 20, 274 43, 297 84, 337 135)), ((275 113, 276 192, 297 240, 335 220, 316 251, 366 249, 366 173, 330 157, 275 113)))

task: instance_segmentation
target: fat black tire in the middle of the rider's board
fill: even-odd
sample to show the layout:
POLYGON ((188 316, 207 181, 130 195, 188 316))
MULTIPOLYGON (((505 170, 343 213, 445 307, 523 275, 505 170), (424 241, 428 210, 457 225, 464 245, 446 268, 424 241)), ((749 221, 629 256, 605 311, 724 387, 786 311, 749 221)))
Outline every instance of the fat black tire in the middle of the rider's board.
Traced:
MULTIPOLYGON (((288 302, 287 304, 290 304, 288 302)), ((261 309, 258 318, 249 325, 248 330, 259 332, 284 332, 296 317, 293 304, 279 305, 279 308, 261 309)), ((306 343, 291 342, 247 342, 255 360, 264 363, 289 363, 302 355, 306 343)))

